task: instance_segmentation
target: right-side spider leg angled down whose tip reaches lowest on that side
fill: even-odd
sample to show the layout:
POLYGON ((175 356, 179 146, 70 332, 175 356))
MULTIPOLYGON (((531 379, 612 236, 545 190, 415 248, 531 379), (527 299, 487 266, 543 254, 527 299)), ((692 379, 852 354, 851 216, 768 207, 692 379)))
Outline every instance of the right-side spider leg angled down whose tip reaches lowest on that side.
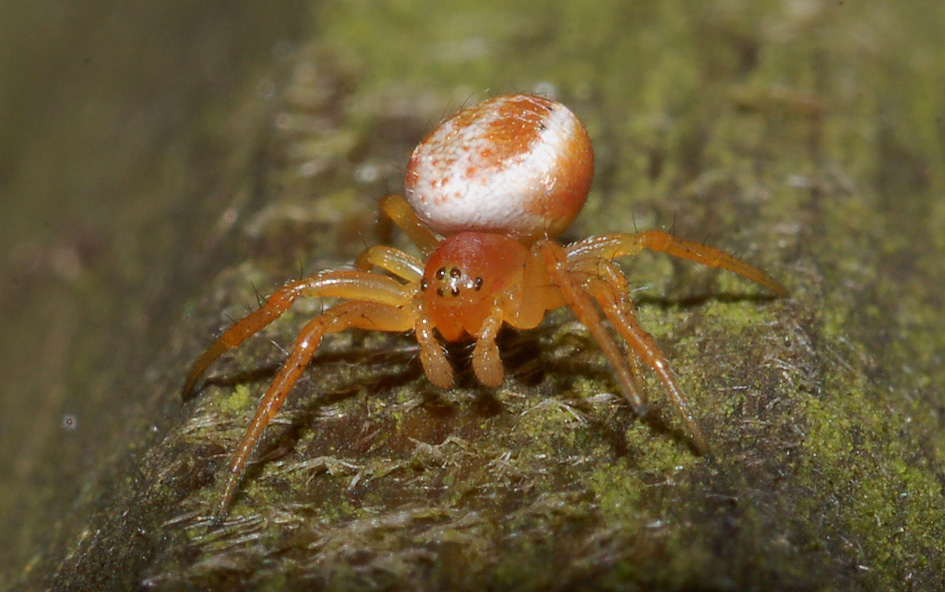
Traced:
POLYGON ((689 430, 696 447, 700 452, 708 453, 709 440, 702 431, 692 408, 689 407, 682 389, 676 384, 666 356, 656 345, 653 337, 637 323, 633 305, 630 303, 630 291, 626 278, 614 269, 615 266, 610 261, 605 260, 602 263, 607 264, 602 269, 608 272, 606 275, 596 276, 591 282, 591 290, 600 303, 604 315, 627 345, 643 359, 647 366, 653 369, 663 383, 663 388, 673 406, 676 407, 680 419, 686 424, 686 429, 689 430))

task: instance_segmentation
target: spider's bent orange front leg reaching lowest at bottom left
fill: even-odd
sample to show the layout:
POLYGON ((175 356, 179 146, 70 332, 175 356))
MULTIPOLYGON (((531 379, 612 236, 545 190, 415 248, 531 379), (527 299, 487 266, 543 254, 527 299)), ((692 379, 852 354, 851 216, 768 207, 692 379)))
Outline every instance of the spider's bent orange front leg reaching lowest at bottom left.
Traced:
POLYGON ((282 364, 282 368, 279 369, 279 373, 256 408, 256 415, 250 422, 246 434, 237 447, 236 455, 230 462, 226 486, 217 506, 218 517, 226 515, 247 460, 259 442, 263 430, 282 407, 289 391, 295 386, 302 371, 311 361, 322 335, 338 333, 353 327, 390 332, 408 331, 414 325, 415 316, 415 309, 407 306, 390 306, 376 302, 343 302, 305 325, 295 340, 289 357, 282 364))

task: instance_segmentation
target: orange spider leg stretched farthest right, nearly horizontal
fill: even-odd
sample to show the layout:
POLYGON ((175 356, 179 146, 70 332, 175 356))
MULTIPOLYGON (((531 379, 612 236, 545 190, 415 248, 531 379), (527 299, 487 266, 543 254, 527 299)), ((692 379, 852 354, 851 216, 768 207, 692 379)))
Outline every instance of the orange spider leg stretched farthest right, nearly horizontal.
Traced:
POLYGON ((615 259, 634 255, 643 249, 666 253, 681 259, 701 263, 707 267, 718 267, 761 284, 778 296, 787 296, 787 288, 777 280, 725 251, 676 238, 660 230, 649 230, 637 234, 605 234, 578 241, 568 247, 568 258, 572 261, 615 259))

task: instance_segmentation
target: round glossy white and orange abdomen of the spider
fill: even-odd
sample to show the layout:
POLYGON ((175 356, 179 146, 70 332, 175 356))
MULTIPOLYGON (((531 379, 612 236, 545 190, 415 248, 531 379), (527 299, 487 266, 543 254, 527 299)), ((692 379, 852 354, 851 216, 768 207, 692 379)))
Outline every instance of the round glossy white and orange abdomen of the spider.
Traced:
POLYGON ((594 173, 584 126, 530 95, 487 99, 443 121, 410 157, 406 197, 432 230, 495 232, 526 244, 561 234, 594 173))

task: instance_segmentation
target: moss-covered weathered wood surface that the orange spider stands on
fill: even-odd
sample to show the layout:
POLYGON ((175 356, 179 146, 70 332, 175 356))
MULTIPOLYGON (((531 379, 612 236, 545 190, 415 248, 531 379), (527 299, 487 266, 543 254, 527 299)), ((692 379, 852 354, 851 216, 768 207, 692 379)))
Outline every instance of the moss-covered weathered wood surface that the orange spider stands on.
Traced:
POLYGON ((111 369, 101 396, 132 398, 127 425, 100 438, 109 453, 87 444, 105 462, 74 476, 67 514, 28 521, 47 540, 19 587, 945 587, 945 9, 851 4, 319 7, 267 78, 267 107, 234 107, 258 129, 222 126, 239 148, 211 194, 237 197, 211 200, 219 223, 187 235, 187 263, 162 263, 187 291, 141 311, 173 321, 142 346, 144 380, 111 369), (374 243, 377 200, 443 114, 532 89, 556 92, 595 141, 570 238, 672 229, 791 291, 625 262, 711 457, 652 379, 635 417, 566 312, 503 336, 495 390, 462 347, 460 385, 443 392, 410 336, 352 332, 324 344, 215 523, 226 462, 283 357, 272 342, 289 347, 323 303, 297 305, 181 401, 188 363, 256 305, 254 286, 374 243))

